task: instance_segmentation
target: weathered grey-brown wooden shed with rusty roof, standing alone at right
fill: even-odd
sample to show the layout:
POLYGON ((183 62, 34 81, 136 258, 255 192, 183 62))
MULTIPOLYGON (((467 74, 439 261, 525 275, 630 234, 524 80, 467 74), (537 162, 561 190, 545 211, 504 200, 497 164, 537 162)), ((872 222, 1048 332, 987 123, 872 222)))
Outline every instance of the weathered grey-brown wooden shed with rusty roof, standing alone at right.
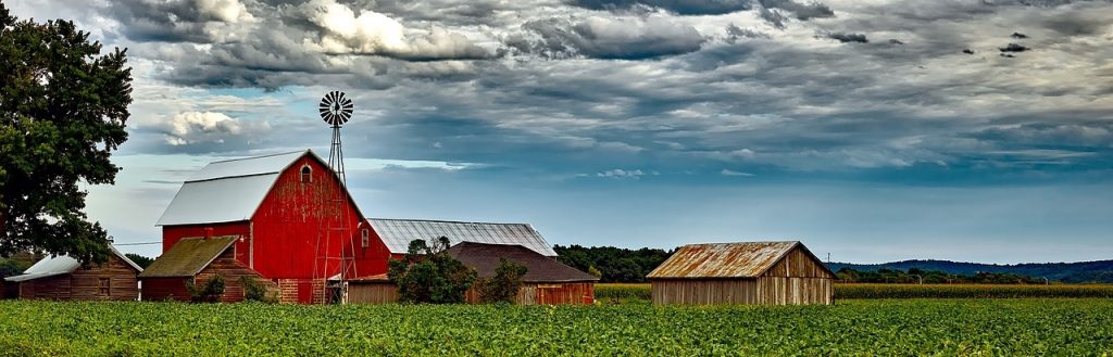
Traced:
POLYGON ((647 278, 658 305, 829 305, 835 291, 835 274, 799 241, 687 245, 647 278))

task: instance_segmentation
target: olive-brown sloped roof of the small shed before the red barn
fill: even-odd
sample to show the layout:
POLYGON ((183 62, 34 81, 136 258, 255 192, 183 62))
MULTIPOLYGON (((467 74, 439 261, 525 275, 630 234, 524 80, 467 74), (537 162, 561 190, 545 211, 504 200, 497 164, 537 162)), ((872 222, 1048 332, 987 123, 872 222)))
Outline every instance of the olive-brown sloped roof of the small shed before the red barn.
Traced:
POLYGON ((219 257, 228 247, 232 247, 239 236, 221 236, 213 238, 185 238, 178 240, 166 254, 155 262, 151 262, 147 270, 139 274, 139 278, 167 278, 167 277, 191 277, 205 269, 216 257, 219 257))

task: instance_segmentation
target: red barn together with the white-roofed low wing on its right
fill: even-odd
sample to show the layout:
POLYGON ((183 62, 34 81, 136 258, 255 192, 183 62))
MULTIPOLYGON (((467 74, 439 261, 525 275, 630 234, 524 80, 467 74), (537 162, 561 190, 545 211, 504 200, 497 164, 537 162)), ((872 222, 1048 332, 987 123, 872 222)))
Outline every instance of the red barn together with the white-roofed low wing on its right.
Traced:
MULTIPOLYGON (((387 261, 405 255, 414 239, 520 244, 556 255, 529 225, 366 219, 335 171, 312 150, 211 162, 185 180, 157 225, 162 227, 158 260, 174 258, 170 252, 181 241, 234 237, 226 250, 213 255, 230 255, 273 282, 283 303, 333 301, 326 285, 385 274, 387 261)), ((206 262, 200 260, 190 264, 206 262)), ((152 282, 151 297, 185 298, 179 286, 190 275, 183 274, 196 271, 157 276, 160 270, 144 276, 145 289, 148 280, 177 282, 152 282)))

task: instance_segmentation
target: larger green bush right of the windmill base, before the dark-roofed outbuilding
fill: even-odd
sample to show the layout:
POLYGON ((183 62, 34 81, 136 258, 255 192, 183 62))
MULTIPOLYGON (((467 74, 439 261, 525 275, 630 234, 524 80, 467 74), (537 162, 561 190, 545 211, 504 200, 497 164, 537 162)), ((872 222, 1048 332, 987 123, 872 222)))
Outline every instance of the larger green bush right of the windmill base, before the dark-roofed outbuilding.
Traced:
POLYGON ((459 304, 475 282, 474 269, 447 252, 449 238, 437 238, 432 246, 423 239, 410 242, 404 259, 387 264, 387 277, 398 286, 403 303, 459 304))

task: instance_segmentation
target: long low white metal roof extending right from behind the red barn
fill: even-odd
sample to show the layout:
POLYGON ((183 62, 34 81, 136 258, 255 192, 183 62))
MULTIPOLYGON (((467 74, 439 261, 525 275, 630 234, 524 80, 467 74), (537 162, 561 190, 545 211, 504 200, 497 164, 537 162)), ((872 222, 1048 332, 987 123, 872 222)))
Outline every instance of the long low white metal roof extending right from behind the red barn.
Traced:
POLYGON ((461 241, 491 245, 519 245, 542 256, 555 257, 552 246, 528 224, 484 224, 421 219, 368 218, 392 254, 405 254, 414 239, 447 237, 451 245, 461 241))

